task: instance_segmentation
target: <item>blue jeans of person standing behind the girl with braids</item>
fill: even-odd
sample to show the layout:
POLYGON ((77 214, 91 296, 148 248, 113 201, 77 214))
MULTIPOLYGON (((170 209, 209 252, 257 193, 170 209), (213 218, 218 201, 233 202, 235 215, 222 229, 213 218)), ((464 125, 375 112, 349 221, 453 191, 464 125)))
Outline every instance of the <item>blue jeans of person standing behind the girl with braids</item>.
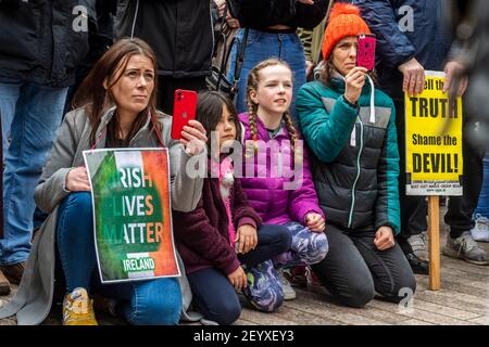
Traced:
MULTIPOLYGON (((229 59, 228 77, 233 80, 235 75, 236 54, 239 53, 239 48, 242 42, 244 29, 239 29, 236 34, 236 39, 239 42, 231 49, 229 59)), ((244 62, 239 75, 238 94, 236 98, 236 107, 238 112, 247 112, 246 95, 247 81, 250 70, 260 62, 269 57, 278 57, 286 61, 292 69, 293 76, 293 97, 290 112, 292 117, 296 117, 296 97, 299 88, 305 83, 305 55, 299 36, 292 34, 272 34, 254 29, 249 29, 247 47, 244 49, 244 62)))

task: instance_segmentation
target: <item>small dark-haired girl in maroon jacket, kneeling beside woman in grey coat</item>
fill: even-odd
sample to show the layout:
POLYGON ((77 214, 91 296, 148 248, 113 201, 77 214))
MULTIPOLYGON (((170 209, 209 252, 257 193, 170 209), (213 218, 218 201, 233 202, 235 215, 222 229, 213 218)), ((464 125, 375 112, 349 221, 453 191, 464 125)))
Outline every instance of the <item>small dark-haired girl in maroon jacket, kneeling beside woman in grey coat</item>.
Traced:
POLYGON ((212 175, 203 180, 193 211, 173 211, 174 233, 197 308, 209 320, 230 324, 241 312, 236 291, 261 311, 281 305, 284 293, 271 259, 290 248, 291 237, 285 227, 262 224, 235 178, 230 157, 221 155, 240 134, 233 103, 218 92, 201 93, 197 119, 217 151, 208 143, 212 175))

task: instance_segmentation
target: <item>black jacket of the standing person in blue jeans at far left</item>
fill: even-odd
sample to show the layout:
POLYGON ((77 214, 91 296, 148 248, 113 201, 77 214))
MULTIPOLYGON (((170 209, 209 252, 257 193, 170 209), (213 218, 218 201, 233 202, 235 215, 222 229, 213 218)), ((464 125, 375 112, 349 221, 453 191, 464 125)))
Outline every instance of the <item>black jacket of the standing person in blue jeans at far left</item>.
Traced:
POLYGON ((87 15, 75 9, 83 7, 95 23, 95 3, 96 0, 0 0, 0 79, 50 87, 73 85, 75 69, 88 52, 85 28, 89 24, 87 15))

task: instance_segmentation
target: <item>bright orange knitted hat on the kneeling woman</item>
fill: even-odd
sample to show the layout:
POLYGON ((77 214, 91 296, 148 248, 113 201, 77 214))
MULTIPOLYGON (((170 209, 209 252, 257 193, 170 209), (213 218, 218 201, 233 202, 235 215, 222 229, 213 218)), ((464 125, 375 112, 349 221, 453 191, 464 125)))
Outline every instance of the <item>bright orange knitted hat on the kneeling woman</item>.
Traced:
POLYGON ((323 39, 323 59, 327 60, 336 43, 347 36, 371 34, 360 9, 350 3, 337 2, 331 8, 328 25, 323 39))

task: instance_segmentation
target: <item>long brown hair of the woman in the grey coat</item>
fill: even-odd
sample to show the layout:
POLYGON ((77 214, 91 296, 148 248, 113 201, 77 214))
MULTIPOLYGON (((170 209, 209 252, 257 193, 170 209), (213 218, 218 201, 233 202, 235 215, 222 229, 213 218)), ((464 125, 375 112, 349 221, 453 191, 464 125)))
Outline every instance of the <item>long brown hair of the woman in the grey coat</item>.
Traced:
MULTIPOLYGON (((112 106, 115 100, 111 93, 111 88, 117 83, 127 67, 129 59, 134 55, 143 55, 151 60, 154 73, 156 73, 156 57, 151 47, 141 39, 123 38, 116 41, 93 65, 88 76, 78 87, 72 102, 74 108, 84 107, 91 126, 90 143, 96 143, 96 132, 103 114, 112 106), (106 89, 104 88, 106 83, 106 89)), ((154 88, 151 92, 148 106, 141 111, 135 119, 131 131, 125 140, 130 140, 136 132, 145 125, 147 115, 151 117, 155 131, 161 127, 156 120, 156 90, 158 78, 154 78, 154 88)), ((118 116, 114 115, 111 123, 114 129, 120 129, 118 116)))

